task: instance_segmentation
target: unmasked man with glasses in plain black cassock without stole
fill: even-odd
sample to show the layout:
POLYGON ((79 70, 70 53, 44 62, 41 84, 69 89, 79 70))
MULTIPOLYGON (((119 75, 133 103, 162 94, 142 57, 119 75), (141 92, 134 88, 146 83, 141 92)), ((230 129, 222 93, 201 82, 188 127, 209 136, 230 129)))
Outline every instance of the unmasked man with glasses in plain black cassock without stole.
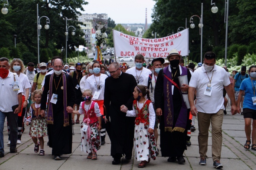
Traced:
POLYGON ((133 91, 137 83, 133 75, 121 72, 118 63, 109 66, 110 77, 105 80, 104 105, 107 121, 110 118, 112 164, 119 164, 122 154, 131 159, 134 138, 135 117, 126 117, 126 111, 132 110, 133 91), (121 106, 125 105, 122 108, 121 106))

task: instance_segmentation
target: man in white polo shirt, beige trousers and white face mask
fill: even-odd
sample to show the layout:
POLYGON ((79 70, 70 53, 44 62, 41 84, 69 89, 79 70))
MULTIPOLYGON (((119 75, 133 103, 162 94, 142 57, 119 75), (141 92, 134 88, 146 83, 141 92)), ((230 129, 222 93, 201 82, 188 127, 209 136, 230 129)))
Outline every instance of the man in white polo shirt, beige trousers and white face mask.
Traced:
POLYGON ((232 115, 237 113, 235 95, 230 84, 228 74, 220 66, 215 65, 216 55, 207 52, 204 55, 204 64, 196 69, 190 79, 188 98, 190 101, 191 114, 198 115, 198 145, 200 162, 206 165, 206 152, 208 146, 208 130, 212 125, 212 159, 215 168, 223 168, 220 164, 222 147, 222 121, 224 114, 223 86, 231 99, 232 115), (196 92, 196 106, 194 105, 194 91, 196 92))

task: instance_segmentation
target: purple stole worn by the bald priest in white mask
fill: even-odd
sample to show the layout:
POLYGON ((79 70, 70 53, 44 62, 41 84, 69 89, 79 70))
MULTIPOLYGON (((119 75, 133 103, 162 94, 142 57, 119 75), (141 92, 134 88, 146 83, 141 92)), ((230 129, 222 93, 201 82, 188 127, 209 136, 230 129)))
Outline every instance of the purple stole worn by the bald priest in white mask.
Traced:
MULTIPOLYGON (((50 83, 49 83, 49 107, 47 111, 47 123, 48 124, 53 124, 53 111, 52 111, 52 103, 50 102, 52 98, 52 82, 53 82, 53 76, 54 73, 50 77, 50 83)), ((67 104, 67 93, 66 93, 66 75, 64 72, 62 72, 62 81, 63 81, 63 103, 64 103, 64 124, 63 126, 68 126, 69 121, 68 121, 68 112, 66 111, 66 107, 68 106, 67 104)))

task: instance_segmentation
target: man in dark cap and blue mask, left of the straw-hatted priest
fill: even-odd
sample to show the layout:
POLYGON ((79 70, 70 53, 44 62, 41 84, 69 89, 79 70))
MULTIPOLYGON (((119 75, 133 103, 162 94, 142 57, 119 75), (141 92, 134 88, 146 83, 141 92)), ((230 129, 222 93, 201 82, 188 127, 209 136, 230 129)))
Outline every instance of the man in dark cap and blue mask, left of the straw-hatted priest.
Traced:
MULTIPOLYGON (((149 74, 143 81, 143 85, 147 87, 149 90, 149 97, 150 100, 152 101, 154 111, 156 113, 156 106, 155 106, 155 99, 154 99, 154 91, 155 91, 155 86, 156 86, 156 80, 157 80, 157 75, 160 70, 163 69, 162 64, 164 64, 164 59, 163 58, 155 58, 151 62, 152 68, 154 70, 153 73, 149 74)), ((157 138, 158 138, 158 121, 159 121, 159 116, 156 115, 156 120, 155 120, 155 125, 154 125, 154 135, 156 138, 156 146, 157 146, 157 138)), ((159 149, 157 148, 157 154, 159 154, 159 149)))

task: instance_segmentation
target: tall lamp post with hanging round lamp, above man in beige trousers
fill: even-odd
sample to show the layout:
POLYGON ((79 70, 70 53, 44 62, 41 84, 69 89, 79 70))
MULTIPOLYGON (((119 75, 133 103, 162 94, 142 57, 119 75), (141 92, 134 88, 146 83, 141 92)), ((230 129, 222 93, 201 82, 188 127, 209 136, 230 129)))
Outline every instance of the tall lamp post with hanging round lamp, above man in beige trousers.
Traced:
MULTIPOLYGON (((212 13, 217 13, 218 12, 218 7, 215 5, 215 3, 212 3, 211 0, 211 5, 212 6, 212 13)), ((224 23, 226 22, 226 37, 225 37, 225 66, 227 66, 227 44, 228 44, 228 6, 229 6, 229 0, 225 0, 225 16, 224 16, 224 23)))

